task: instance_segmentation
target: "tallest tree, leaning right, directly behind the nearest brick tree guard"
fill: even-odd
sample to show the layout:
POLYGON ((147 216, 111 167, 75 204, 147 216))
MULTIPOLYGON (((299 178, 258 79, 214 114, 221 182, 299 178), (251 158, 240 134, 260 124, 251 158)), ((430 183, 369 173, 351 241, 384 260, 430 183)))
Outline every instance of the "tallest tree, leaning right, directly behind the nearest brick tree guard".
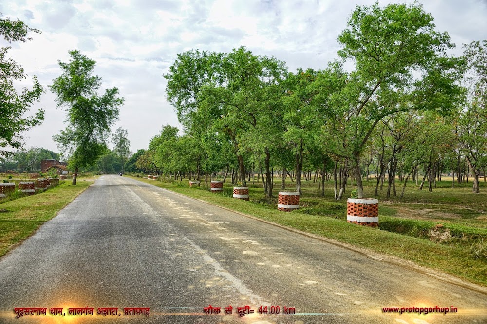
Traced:
MULTIPOLYGON (((400 111, 447 112, 453 107, 459 62, 446 57, 445 50, 454 47, 450 36, 434 28, 431 14, 417 3, 383 9, 375 3, 357 6, 339 35, 339 55, 356 66, 348 82, 349 110, 343 116, 356 174, 360 153, 381 119, 400 111)), ((357 187, 363 197, 360 176, 357 187)))

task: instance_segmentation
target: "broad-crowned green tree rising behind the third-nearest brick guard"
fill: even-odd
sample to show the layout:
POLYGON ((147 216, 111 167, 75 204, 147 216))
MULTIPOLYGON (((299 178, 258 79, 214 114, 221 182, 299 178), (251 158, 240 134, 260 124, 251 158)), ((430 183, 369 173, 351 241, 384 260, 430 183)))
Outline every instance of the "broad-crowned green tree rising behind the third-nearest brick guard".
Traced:
MULTIPOLYGON (((241 137, 257 126, 259 113, 271 106, 266 103, 268 87, 274 87, 284 74, 282 62, 253 55, 244 47, 227 54, 192 50, 178 54, 169 68, 166 92, 179 121, 189 131, 229 137, 245 186, 246 148, 241 137)), ((269 154, 268 148, 264 151, 269 154)), ((268 159, 265 163, 270 179, 268 159)))

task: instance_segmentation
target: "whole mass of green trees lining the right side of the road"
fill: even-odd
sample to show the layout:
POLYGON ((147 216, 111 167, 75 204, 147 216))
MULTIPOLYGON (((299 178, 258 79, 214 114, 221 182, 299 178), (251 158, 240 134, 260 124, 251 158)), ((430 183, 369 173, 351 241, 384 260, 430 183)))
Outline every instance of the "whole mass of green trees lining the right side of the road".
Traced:
POLYGON ((295 73, 244 47, 178 54, 166 91, 184 130, 164 127, 137 167, 198 179, 236 168, 243 185, 257 170, 269 197, 273 167, 283 179, 293 170, 297 191, 312 170, 333 178, 336 199, 349 177, 363 197, 371 165, 377 187, 387 173, 388 195, 396 175, 405 186, 423 171, 432 190, 442 171, 469 169, 478 193, 487 167, 487 42, 447 55, 455 45, 417 3, 357 6, 338 41, 339 60, 295 73))

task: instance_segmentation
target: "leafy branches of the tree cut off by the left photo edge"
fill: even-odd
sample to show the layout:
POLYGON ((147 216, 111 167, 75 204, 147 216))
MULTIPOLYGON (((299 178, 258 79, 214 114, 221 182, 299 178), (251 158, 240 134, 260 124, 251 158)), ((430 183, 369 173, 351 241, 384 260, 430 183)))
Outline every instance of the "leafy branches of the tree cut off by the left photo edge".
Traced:
MULTIPOLYGON (((0 14, 1 16, 1 14, 0 14)), ((26 42, 29 32, 40 34, 40 31, 28 27, 20 20, 13 21, 0 18, 0 35, 8 42, 26 42)), ((24 70, 6 54, 10 47, 0 48, 0 156, 13 152, 4 148, 18 149, 23 144, 22 132, 39 125, 44 120, 44 110, 39 109, 33 116, 25 116, 30 106, 37 102, 44 89, 34 77, 32 90, 23 88, 19 93, 14 81, 26 79, 24 70)))

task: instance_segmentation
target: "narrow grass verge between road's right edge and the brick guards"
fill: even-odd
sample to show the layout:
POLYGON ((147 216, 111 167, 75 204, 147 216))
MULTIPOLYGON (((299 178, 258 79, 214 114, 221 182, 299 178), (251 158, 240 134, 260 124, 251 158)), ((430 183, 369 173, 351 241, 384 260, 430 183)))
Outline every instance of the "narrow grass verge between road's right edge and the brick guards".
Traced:
MULTIPOLYGON (((274 200, 262 198, 262 193, 258 191, 258 188, 250 188, 251 197, 257 197, 257 199, 245 202, 229 197, 231 184, 225 184, 227 188, 224 187, 224 193, 217 195, 206 191, 204 188, 189 188, 186 183, 167 183, 135 177, 133 179, 167 188, 174 192, 205 200, 212 204, 230 208, 266 221, 293 227, 322 237, 336 239, 340 242, 386 255, 397 256, 413 261, 421 266, 449 273, 482 286, 487 286, 487 258, 475 258, 472 256, 469 243, 467 244, 462 239, 439 243, 429 239, 393 233, 387 230, 348 224, 345 222, 344 216, 345 202, 334 202, 321 198, 318 202, 320 204, 318 208, 318 204, 312 202, 317 198, 311 197, 308 198, 310 201, 303 199, 303 205, 307 205, 307 207, 304 207, 299 212, 284 213, 276 210, 277 199, 274 199, 276 200, 276 204, 274 204, 274 200), (321 214, 327 215, 310 213, 310 210, 307 208, 318 208, 321 214)), ((387 213, 393 214, 393 211, 389 209, 387 213)), ((414 222, 414 220, 383 215, 381 215, 380 220, 388 224, 388 226, 397 226, 397 222, 409 222, 409 227, 405 226, 404 234, 416 231, 415 228, 426 228, 435 224, 431 221, 417 220, 417 222, 414 222)), ((473 231, 475 235, 479 234, 479 231, 487 234, 485 228, 480 228, 479 231, 476 231, 470 227, 464 228, 464 224, 451 224, 451 226, 455 230, 462 229, 468 233, 473 231)))

